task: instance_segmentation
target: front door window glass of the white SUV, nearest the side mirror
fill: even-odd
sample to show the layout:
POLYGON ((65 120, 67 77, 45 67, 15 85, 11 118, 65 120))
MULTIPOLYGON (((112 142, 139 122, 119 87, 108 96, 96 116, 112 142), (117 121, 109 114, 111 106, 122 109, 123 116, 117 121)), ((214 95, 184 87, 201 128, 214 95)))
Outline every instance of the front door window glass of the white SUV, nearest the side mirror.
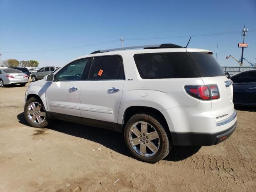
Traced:
POLYGON ((82 80, 84 69, 89 59, 82 59, 65 66, 57 75, 57 81, 78 81, 82 80))

